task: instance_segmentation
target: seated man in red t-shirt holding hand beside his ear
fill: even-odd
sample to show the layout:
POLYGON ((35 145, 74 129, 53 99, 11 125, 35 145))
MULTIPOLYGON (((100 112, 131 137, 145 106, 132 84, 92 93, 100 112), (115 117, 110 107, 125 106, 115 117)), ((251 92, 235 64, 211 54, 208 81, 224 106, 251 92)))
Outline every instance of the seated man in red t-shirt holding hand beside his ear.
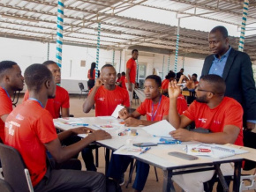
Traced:
POLYGON ((113 65, 105 64, 101 70, 101 77, 96 79, 83 110, 88 113, 95 104, 95 116, 111 115, 117 105, 130 107, 128 92, 116 85, 117 72, 113 65))

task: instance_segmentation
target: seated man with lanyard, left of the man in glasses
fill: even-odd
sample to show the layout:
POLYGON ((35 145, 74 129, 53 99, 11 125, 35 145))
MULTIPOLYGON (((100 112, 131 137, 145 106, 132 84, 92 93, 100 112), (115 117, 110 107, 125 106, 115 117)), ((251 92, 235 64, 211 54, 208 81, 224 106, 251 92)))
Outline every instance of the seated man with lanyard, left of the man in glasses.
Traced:
MULTIPOLYGON (((159 76, 150 75, 147 76, 144 82, 144 92, 146 100, 140 104, 140 106, 132 114, 128 113, 126 108, 119 112, 119 117, 124 119, 125 125, 129 127, 136 127, 139 125, 150 125, 158 121, 167 120, 169 114, 169 99, 161 93, 162 80, 159 76), (146 120, 137 119, 141 115, 147 114, 146 120)), ((182 114, 186 108, 177 105, 178 111, 182 114)), ((124 183, 124 172, 129 166, 131 158, 121 155, 112 155, 109 165, 108 176, 124 183)), ((132 188, 136 191, 143 190, 147 181, 147 175, 149 172, 149 165, 143 162, 137 161, 137 174, 132 188)))

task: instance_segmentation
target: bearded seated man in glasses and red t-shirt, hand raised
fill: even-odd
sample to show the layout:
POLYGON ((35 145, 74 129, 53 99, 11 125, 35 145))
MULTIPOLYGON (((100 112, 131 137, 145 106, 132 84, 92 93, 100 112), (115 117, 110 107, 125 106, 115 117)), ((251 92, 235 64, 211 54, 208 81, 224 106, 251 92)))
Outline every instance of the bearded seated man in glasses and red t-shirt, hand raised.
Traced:
MULTIPOLYGON (((196 100, 180 116, 176 109, 180 87, 176 82, 170 82, 169 123, 177 129, 170 132, 171 137, 184 142, 243 145, 243 108, 236 100, 224 97, 225 90, 225 82, 220 76, 202 77, 195 89, 196 100), (195 122, 196 129, 206 129, 210 133, 184 129, 191 122, 195 122)), ((234 174, 231 164, 222 164, 221 170, 223 175, 234 174)), ((173 176, 172 180, 184 191, 203 191, 203 182, 209 181, 213 175, 214 171, 181 174, 173 176)))

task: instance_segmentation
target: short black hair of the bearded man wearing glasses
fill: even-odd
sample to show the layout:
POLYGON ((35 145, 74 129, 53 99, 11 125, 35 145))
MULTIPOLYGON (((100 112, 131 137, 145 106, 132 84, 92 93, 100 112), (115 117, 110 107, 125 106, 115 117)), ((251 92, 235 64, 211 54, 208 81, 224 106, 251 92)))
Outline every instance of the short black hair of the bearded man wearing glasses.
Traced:
POLYGON ((223 95, 226 92, 226 84, 222 77, 210 74, 203 76, 200 80, 206 81, 208 84, 211 85, 213 92, 219 95, 223 95))

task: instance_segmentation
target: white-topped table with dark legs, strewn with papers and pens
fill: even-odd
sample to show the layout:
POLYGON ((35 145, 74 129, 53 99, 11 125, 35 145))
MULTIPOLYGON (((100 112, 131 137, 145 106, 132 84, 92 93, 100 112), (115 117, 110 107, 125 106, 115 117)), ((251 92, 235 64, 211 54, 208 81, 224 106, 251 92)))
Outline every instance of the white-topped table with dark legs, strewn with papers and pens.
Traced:
MULTIPOLYGON (((111 118, 111 117, 83 117, 79 118, 80 122, 87 123, 89 128, 98 129, 94 125, 103 125, 103 124, 111 124, 116 129, 104 129, 109 132, 112 136, 111 139, 97 141, 97 144, 100 144, 106 147, 106 171, 108 170, 109 165, 109 150, 117 150, 119 147, 126 144, 127 139, 132 139, 132 143, 141 143, 141 142, 155 142, 156 138, 151 137, 147 134, 146 131, 141 129, 141 127, 131 128, 137 129, 139 135, 138 136, 117 136, 118 132, 124 129, 124 125, 120 124, 120 120, 111 118)), ((75 126, 64 124, 61 120, 54 120, 55 126, 58 129, 71 129, 75 128, 75 126)), ((157 129, 157 128, 156 128, 157 129)), ((81 136, 86 137, 86 136, 81 136)), ((185 143, 184 143, 185 144, 185 143)), ((149 165, 159 167, 164 172, 163 178, 163 188, 162 191, 169 191, 171 187, 171 177, 176 174, 188 174, 194 172, 201 172, 207 170, 216 170, 220 180, 223 182, 222 185, 225 185, 224 178, 222 176, 222 172, 220 170, 220 165, 222 163, 235 163, 234 170, 234 182, 233 182, 233 190, 239 191, 240 186, 240 175, 241 175, 241 166, 242 160, 245 159, 245 156, 255 157, 254 151, 250 151, 249 153, 243 155, 232 156, 230 158, 225 159, 214 159, 210 157, 199 157, 196 160, 184 160, 176 157, 172 157, 168 155, 169 151, 183 151, 184 144, 159 144, 158 146, 152 147, 151 150, 143 153, 139 156, 132 157, 134 159, 138 159, 142 162, 145 162, 149 165), (253 153, 253 154, 252 154, 253 153), (203 166, 203 167, 202 167, 203 166), (184 168, 193 167, 192 170, 183 170, 184 168), (198 168, 196 168, 198 167, 198 168), (173 172, 175 170, 175 172, 173 172), (180 170, 180 171, 179 171, 180 170)), ((186 143, 187 144, 187 143, 186 143)), ((253 159, 255 160, 255 159, 253 159)))

